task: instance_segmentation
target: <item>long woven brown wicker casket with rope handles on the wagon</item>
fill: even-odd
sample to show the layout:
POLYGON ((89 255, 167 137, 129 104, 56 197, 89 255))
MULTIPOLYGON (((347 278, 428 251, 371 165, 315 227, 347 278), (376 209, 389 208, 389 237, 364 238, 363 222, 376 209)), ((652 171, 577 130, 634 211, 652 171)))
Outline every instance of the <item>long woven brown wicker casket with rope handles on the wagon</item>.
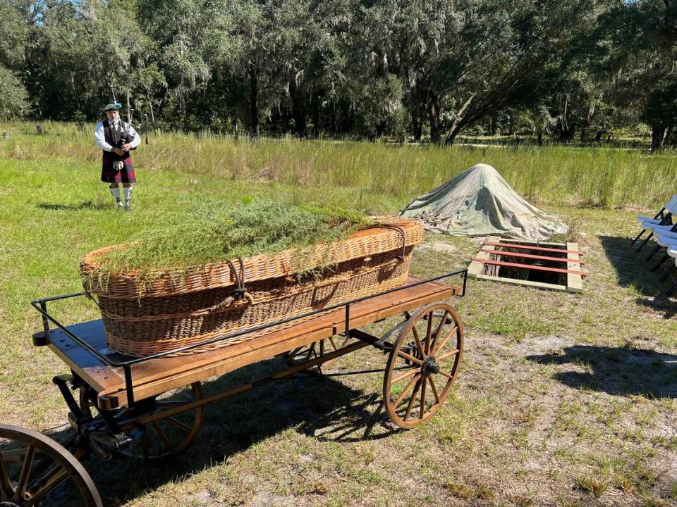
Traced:
MULTIPOLYGON (((423 229, 405 218, 377 218, 377 224, 303 252, 291 249, 163 270, 154 273, 150 284, 140 282, 135 272, 99 281, 97 256, 113 246, 83 258, 83 286, 98 300, 108 346, 127 356, 148 356, 398 287, 407 280, 423 229), (319 279, 298 276, 327 266, 328 260, 319 279)), ((260 336, 243 334, 182 353, 260 336)))

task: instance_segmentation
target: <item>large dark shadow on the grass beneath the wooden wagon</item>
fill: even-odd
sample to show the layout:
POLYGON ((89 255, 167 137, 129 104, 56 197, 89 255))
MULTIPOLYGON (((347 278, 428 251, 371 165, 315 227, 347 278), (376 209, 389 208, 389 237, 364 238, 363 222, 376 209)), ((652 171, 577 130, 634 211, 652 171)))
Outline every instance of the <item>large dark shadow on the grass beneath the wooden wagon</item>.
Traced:
MULTIPOLYGON (((269 375, 279 359, 257 363, 203 383, 203 395, 223 392, 252 378, 269 375)), ((65 406, 64 406, 65 408, 65 406)), ((118 506, 168 482, 182 480, 226 463, 230 456, 255 446, 276 434, 293 430, 331 442, 381 439, 399 432, 382 410, 380 394, 365 394, 331 377, 305 375, 295 380, 271 382, 252 391, 209 404, 197 439, 183 453, 161 463, 141 458, 83 461, 92 476, 104 506, 118 506)), ((65 442, 70 430, 47 432, 65 442)), ((0 442, 0 449, 3 449, 0 442)), ((274 449, 274 447, 267 447, 274 449)), ((283 452, 293 452, 286 444, 283 452)), ((254 472, 252 472, 253 474, 254 472)), ((50 498, 49 505, 73 506, 78 492, 70 481, 50 498)))

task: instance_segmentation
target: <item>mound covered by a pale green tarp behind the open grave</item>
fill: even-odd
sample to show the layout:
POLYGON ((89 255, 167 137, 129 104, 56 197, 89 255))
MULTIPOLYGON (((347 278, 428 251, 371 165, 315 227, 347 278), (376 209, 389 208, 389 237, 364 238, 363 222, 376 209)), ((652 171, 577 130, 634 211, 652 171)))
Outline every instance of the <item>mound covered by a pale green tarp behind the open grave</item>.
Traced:
POLYGON ((522 199, 491 165, 464 173, 415 199, 400 216, 455 236, 501 236, 540 241, 567 227, 522 199))

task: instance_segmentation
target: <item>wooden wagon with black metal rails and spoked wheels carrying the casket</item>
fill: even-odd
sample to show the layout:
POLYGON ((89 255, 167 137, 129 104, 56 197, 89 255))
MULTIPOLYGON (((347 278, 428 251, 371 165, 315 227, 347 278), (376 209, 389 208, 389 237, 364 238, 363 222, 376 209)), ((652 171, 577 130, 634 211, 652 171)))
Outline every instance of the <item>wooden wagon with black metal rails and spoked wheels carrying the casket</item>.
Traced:
POLYGON ((188 357, 172 356, 174 351, 145 358, 120 356, 107 349, 101 320, 74 325, 57 320, 51 306, 84 293, 33 301, 44 328, 33 335, 33 343, 48 346, 71 369, 68 375, 54 377, 54 384, 68 406, 72 430, 62 445, 32 430, 0 425, 0 505, 58 503, 56 489, 72 481, 77 487, 73 491, 81 496, 78 505, 100 506, 97 488, 80 459, 93 454, 102 459, 132 455, 157 460, 180 453, 200 431, 208 403, 274 380, 322 373, 322 365, 368 345, 387 356, 387 415, 399 427, 415 427, 439 410, 456 379, 463 325, 444 300, 464 294, 466 275, 467 270, 461 270, 430 280, 409 277, 396 289, 250 328, 237 334, 252 334, 254 339, 188 357), (462 283, 441 281, 455 276, 462 277, 462 283), (381 337, 360 330, 392 317, 398 318, 397 324, 381 337), (272 375, 202 394, 201 382, 210 377, 271 358, 279 358, 280 365, 272 375))

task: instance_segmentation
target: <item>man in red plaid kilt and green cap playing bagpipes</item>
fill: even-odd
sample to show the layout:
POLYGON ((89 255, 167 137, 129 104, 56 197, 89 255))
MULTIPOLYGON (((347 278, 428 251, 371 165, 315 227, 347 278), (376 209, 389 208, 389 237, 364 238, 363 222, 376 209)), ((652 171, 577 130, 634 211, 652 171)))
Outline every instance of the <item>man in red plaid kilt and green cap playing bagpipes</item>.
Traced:
POLYGON ((111 194, 118 209, 131 209, 132 184, 136 182, 130 150, 141 144, 141 137, 134 127, 120 118, 122 105, 113 100, 104 106, 106 120, 99 122, 94 130, 97 146, 103 150, 101 180, 110 184, 111 194), (122 183, 124 204, 120 199, 119 184, 122 183))

